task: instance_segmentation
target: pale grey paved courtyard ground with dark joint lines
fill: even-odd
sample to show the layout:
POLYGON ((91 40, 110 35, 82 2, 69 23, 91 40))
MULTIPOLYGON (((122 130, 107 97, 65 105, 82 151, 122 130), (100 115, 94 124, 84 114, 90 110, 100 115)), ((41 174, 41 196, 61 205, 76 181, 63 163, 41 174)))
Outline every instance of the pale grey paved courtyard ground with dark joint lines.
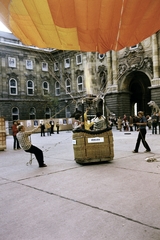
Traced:
POLYGON ((137 132, 113 129, 114 160, 79 165, 72 132, 32 135, 47 168, 30 154, 0 152, 0 240, 160 240, 160 135, 133 154, 137 132), (147 157, 157 162, 146 162, 147 157))

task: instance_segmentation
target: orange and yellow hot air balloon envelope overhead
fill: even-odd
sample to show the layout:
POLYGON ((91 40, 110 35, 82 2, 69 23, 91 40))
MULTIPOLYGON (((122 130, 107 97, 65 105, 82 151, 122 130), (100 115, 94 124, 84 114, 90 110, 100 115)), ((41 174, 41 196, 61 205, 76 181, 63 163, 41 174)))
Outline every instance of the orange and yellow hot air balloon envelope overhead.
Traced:
POLYGON ((160 0, 0 0, 0 20, 25 45, 105 53, 160 29, 160 0))

